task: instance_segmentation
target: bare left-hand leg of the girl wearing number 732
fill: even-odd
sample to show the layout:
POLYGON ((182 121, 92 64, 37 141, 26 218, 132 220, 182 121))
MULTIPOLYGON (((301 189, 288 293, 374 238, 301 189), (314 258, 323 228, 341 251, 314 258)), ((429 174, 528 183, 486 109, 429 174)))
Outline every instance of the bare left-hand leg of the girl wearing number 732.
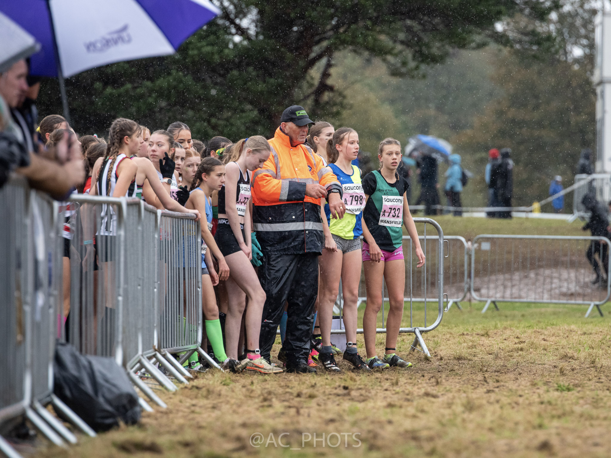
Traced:
POLYGON ((376 329, 378 327, 378 312, 382 308, 382 280, 384 279, 384 261, 365 261, 365 295, 367 305, 363 316, 363 332, 365 335, 365 351, 367 358, 376 355, 376 329))

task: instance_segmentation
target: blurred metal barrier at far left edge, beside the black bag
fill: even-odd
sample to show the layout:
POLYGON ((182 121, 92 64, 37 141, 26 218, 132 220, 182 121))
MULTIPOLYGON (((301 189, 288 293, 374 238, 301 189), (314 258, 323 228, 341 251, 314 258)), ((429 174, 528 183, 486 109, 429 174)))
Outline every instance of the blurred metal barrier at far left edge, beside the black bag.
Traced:
MULTIPOLYGON (((62 305, 64 224, 59 203, 13 177, 0 190, 0 424, 10 429, 23 415, 51 442, 76 436, 45 409, 52 403, 71 423, 95 436, 53 394, 53 357, 62 305)), ((0 437, 0 451, 19 457, 0 437)))

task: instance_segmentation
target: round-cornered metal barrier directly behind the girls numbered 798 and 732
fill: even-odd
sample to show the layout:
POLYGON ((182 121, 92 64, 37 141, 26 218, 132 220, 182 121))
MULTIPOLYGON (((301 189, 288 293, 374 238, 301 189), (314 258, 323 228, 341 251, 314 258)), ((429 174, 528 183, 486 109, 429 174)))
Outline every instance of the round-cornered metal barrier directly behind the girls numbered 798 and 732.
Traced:
MULTIPOLYGON (((405 282, 405 290, 406 297, 404 297, 404 301, 408 302, 409 300, 409 327, 400 328, 399 332, 403 333, 413 333, 414 334, 414 342, 412 343, 411 349, 414 351, 418 345, 422 348, 422 351, 430 357, 431 354, 426 347, 426 344, 422 338, 422 334, 426 332, 431 332, 441 323, 441 319, 444 316, 444 231, 441 229, 441 226, 437 224, 437 222, 430 218, 414 218, 414 222, 416 223, 416 227, 419 230, 419 233, 422 233, 420 238, 422 239, 421 245, 422 250, 426 256, 426 263, 420 269, 417 269, 415 266, 418 262, 418 258, 415 256, 415 252, 413 249, 413 245, 409 241, 409 237, 403 237, 403 256, 405 258, 405 266, 406 266, 406 282, 405 282), (420 226, 420 224, 423 224, 420 226), (426 227, 428 225, 433 226, 433 228, 437 231, 436 236, 427 236, 426 235, 426 227), (414 288, 417 288, 417 291, 420 291, 420 287, 422 287, 423 291, 423 299, 419 299, 414 297, 414 288), (433 297, 428 297, 428 291, 431 291, 433 297), (407 295, 409 293, 409 296, 407 295), (423 310, 414 310, 414 303, 422 302, 423 310), (437 315, 433 324, 428 324, 430 320, 428 320, 428 302, 437 302, 437 315), (420 325, 414 325, 414 321, 419 322, 420 325)), ((454 238, 454 239, 462 239, 462 238, 454 238)), ((464 239, 463 239, 464 241, 464 239)), ((466 247, 466 244, 465 244, 466 247)), ((464 260, 464 258, 463 258, 464 260)), ((463 262, 461 260, 461 262, 463 262)), ((366 297, 364 297, 365 291, 365 283, 364 283, 364 274, 361 274, 361 285, 359 285, 359 302, 357 304, 362 304, 362 302, 367 302, 366 297), (362 288, 362 289, 361 289, 362 288)), ((464 280, 461 280, 461 285, 464 288, 464 280)), ((384 291, 386 291, 385 287, 382 287, 382 327, 376 330, 377 333, 386 333, 386 328, 384 327, 384 301, 387 301, 387 297, 384 297, 384 291)), ((462 299, 464 295, 460 295, 459 299, 462 299)), ((456 301, 455 301, 456 302, 456 301)), ((356 332, 358 334, 362 334, 362 329, 357 329, 356 332)), ((332 329, 332 334, 345 334, 345 329, 332 329)))

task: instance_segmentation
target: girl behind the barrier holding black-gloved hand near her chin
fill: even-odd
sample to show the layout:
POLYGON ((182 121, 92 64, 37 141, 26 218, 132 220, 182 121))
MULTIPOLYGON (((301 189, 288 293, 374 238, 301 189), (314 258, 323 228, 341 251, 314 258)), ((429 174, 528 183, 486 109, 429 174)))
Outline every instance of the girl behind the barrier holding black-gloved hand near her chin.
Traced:
MULTIPOLYGON (((159 180, 164 185, 164 189, 166 189, 172 198, 178 192, 176 164, 174 161, 176 148, 174 143, 174 137, 168 131, 155 131, 151 134, 150 140, 148 140, 148 158, 153 163, 153 167, 155 167, 159 180)), ((150 183, 148 185, 150 186, 150 183)), ((145 196, 145 199, 147 194, 148 186, 147 183, 144 183, 142 195, 145 196)), ((148 200, 147 203, 155 205, 152 202, 148 202, 148 200)), ((155 206, 158 209, 163 209, 163 206, 155 206)))

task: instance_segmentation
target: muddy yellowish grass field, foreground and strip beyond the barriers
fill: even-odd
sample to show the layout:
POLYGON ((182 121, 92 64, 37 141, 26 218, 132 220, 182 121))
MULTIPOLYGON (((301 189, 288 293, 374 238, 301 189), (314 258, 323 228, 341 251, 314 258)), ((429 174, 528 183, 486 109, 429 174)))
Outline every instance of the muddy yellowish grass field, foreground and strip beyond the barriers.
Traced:
MULTIPOLYGON (((584 234, 580 222, 438 220, 446 234, 466 238, 584 234)), ((176 393, 158 391, 168 408, 144 413, 139 426, 35 456, 610 456, 609 319, 585 319, 582 305, 499 303, 501 311, 486 314, 482 303, 462 305, 424 336, 431 358, 409 352, 413 336, 401 335, 398 353, 413 368, 354 374, 340 360, 341 374, 210 369, 176 393)), ((422 304, 414 307, 422 314, 422 304)), ((279 341, 273 355, 278 349, 279 341)))

